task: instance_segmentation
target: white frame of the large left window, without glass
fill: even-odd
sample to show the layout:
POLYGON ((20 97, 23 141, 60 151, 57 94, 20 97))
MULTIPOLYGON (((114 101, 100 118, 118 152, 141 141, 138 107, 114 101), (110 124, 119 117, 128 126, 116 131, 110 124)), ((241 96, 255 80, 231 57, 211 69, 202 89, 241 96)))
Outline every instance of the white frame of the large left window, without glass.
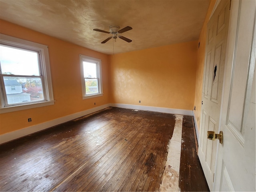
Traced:
POLYGON ((22 103, 16 104, 13 106, 6 106, 6 102, 4 101, 5 98, 5 88, 3 87, 3 75, 0 72, 0 114, 7 113, 7 112, 14 112, 19 110, 26 110, 31 108, 37 108, 42 106, 48 106, 54 104, 54 97, 53 97, 53 90, 52 90, 52 78, 51 78, 51 71, 50 71, 50 59, 49 59, 49 52, 48 46, 23 40, 20 38, 0 34, 0 44, 11 46, 14 48, 21 48, 24 50, 31 50, 38 52, 40 55, 40 68, 41 68, 41 75, 42 75, 42 86, 44 87, 44 100, 38 101, 34 103, 22 103))

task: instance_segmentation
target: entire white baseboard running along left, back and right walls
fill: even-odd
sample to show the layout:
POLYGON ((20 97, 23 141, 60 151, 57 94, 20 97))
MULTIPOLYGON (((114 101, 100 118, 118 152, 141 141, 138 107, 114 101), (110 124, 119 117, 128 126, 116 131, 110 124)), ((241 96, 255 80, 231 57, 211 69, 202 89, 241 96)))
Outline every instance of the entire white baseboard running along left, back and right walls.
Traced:
MULTIPOLYGON (((134 109, 134 110, 145 110, 145 111, 154 111, 154 112, 162 112, 162 113, 170 113, 170 114, 180 114, 180 115, 193 115, 193 112, 190 110, 182 110, 182 109, 171 109, 171 108, 161 108, 161 107, 150 107, 150 106, 139 106, 139 105, 128 105, 128 104, 115 104, 115 103, 111 103, 111 104, 105 104, 102 106, 98 106, 95 108, 91 108, 88 110, 84 110, 81 112, 77 112, 74 114, 70 114, 64 117, 60 117, 51 121, 47 121, 47 122, 43 122, 40 124, 36 124, 33 126, 29 126, 20 130, 16 130, 16 131, 12 131, 12 132, 8 132, 5 134, 0 135, 0 144, 42 131, 44 129, 56 126, 58 124, 62 124, 65 122, 68 122, 70 120, 74 120, 76 118, 103 110, 105 108, 108 108, 110 106, 113 107, 120 107, 120 108, 127 108, 127 109, 134 109)), ((196 122, 196 121, 195 121, 196 122)), ((197 129, 196 129, 197 130, 197 129)), ((198 134, 198 130, 197 130, 197 134, 198 134)))

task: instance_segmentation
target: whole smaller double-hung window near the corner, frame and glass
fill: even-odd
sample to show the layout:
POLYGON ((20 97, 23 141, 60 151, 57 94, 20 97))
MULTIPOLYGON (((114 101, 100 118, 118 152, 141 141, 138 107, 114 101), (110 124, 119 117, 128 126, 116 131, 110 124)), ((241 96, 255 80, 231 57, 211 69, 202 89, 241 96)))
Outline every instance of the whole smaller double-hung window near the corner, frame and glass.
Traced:
POLYGON ((83 99, 102 96, 101 60, 80 55, 83 99))

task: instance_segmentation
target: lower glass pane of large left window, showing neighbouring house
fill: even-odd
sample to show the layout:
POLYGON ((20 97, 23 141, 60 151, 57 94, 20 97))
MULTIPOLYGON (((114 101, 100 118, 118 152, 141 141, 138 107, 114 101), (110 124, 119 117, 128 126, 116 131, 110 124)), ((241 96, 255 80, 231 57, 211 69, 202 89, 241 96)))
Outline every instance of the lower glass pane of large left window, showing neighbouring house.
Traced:
POLYGON ((44 100, 42 80, 40 77, 4 77, 4 87, 8 104, 44 100))

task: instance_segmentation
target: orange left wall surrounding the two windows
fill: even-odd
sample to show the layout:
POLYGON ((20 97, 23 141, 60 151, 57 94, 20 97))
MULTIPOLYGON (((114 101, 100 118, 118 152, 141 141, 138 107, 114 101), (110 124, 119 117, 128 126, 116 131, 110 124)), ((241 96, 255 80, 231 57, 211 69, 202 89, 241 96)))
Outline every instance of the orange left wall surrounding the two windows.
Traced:
POLYGON ((0 134, 40 124, 109 103, 109 60, 102 54, 0 20, 0 33, 48 45, 55 104, 29 110, 0 114, 0 134), (79 54, 102 60, 102 97, 82 100, 79 54), (32 122, 28 122, 32 118, 32 122))

